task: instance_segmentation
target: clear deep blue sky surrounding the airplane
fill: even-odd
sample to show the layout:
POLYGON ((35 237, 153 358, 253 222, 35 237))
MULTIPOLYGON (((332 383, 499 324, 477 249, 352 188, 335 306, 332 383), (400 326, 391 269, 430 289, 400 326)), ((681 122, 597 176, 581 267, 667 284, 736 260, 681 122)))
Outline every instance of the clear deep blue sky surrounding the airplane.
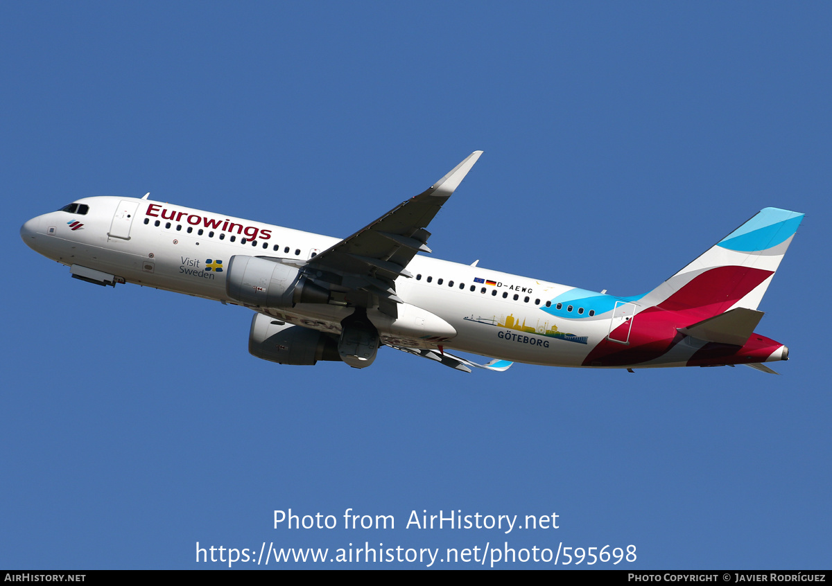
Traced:
POLYGON ((220 569, 197 541, 368 541, 828 568, 830 12, 4 2, 0 566, 220 569), (18 234, 73 199, 150 191, 344 237, 479 149, 433 254, 582 288, 643 293, 757 210, 804 212, 760 306, 791 350, 782 376, 464 375, 389 348, 363 371, 281 367, 247 353, 244 309, 93 287, 18 234), (273 529, 290 508, 396 526, 273 529), (406 529, 412 510, 554 512, 559 529, 406 529))

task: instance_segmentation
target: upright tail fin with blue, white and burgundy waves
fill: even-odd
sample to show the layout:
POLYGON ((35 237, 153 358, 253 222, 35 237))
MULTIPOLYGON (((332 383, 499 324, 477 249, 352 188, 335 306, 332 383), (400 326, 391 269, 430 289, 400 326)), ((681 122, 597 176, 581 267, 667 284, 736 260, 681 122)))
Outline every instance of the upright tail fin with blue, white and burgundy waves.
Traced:
POLYGON ((700 319, 756 309, 804 214, 765 208, 698 259, 647 293, 640 304, 700 319))

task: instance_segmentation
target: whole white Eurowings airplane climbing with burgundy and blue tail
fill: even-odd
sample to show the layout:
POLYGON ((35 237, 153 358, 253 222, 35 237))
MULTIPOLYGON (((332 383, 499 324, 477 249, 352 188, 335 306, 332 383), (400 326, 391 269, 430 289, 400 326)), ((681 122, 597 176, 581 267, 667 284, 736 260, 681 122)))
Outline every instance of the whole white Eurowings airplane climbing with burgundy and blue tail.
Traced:
POLYGON ((253 309, 249 352, 369 367, 379 346, 463 372, 716 367, 775 373, 754 332, 804 214, 765 208, 648 293, 621 297, 426 256, 428 224, 483 152, 345 239, 143 198, 77 199, 23 241, 98 285, 137 283, 253 309), (450 351, 493 357, 480 364, 450 351))

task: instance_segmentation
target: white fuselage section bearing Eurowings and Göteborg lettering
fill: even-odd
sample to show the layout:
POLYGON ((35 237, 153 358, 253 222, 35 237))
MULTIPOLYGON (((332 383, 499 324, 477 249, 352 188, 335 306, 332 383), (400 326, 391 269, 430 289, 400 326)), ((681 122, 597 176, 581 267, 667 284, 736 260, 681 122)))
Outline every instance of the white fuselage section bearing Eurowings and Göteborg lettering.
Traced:
MULTIPOLYGON (((86 204, 87 213, 57 211, 38 216, 24 224, 23 239, 40 254, 68 266, 224 303, 237 302, 225 292, 227 271, 216 268, 227 268, 232 256, 304 263, 339 242, 321 234, 149 199, 92 197, 78 199, 77 204, 86 204), (82 226, 78 228, 73 221, 82 226)), ((556 311, 552 300, 581 290, 423 255, 414 257, 407 268, 414 277, 399 277, 396 294, 406 306, 432 313, 453 327, 456 335, 439 342, 443 347, 514 362, 581 366, 590 349, 617 325, 612 304, 622 303, 605 299, 604 310, 592 310, 592 315, 591 308, 577 305, 568 305, 567 312, 564 304, 556 311)), ((582 298, 609 297, 582 293, 586 293, 582 298)), ((351 311, 337 305, 300 303, 268 313, 305 327, 339 332, 341 320, 351 311)), ((403 313, 408 314, 406 307, 403 313)), ((384 316, 369 312, 368 317, 379 328, 382 342, 437 346, 436 342, 397 340, 385 330, 384 316)))

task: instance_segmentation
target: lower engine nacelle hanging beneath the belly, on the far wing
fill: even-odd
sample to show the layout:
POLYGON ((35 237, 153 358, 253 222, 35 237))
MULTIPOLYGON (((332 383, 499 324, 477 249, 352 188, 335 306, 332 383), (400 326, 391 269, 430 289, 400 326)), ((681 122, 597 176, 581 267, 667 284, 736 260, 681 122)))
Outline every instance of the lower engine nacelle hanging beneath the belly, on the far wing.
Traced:
POLYGON ((319 360, 341 360, 334 338, 308 327, 282 323, 262 313, 256 313, 251 320, 249 352, 263 360, 298 366, 311 366, 319 360))

